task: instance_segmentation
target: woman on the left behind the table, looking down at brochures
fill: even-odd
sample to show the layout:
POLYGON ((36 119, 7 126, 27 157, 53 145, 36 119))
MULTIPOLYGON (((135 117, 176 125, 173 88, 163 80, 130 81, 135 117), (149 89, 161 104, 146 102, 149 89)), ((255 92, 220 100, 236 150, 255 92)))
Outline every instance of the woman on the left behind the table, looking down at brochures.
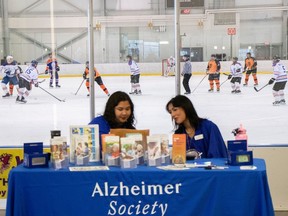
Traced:
POLYGON ((135 129, 134 104, 128 94, 114 92, 106 102, 104 114, 95 117, 89 124, 99 125, 100 149, 101 135, 109 134, 111 128, 135 129))

